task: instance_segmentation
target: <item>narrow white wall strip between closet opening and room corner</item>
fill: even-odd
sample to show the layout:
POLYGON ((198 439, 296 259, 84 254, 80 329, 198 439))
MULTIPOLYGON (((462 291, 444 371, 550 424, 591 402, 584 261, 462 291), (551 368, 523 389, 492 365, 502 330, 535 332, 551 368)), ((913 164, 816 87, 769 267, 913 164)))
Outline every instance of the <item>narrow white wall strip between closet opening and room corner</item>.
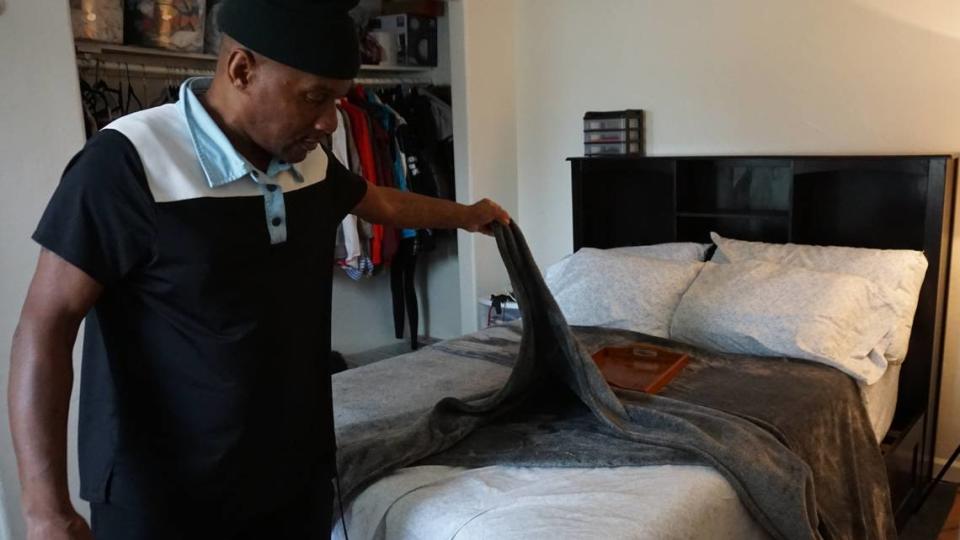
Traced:
MULTIPOLYGON (((450 10, 457 200, 497 201, 518 215, 515 12, 512 0, 461 0, 450 10)), ((476 329, 477 300, 509 289, 491 238, 459 233, 463 332, 476 329)))

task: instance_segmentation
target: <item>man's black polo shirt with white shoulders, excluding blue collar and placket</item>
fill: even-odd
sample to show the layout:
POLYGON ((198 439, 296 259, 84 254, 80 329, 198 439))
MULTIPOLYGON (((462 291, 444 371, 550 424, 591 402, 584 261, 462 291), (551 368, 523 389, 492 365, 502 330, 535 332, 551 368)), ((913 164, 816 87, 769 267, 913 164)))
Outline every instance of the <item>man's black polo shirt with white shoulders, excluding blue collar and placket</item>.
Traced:
POLYGON ((108 126, 34 239, 104 286, 84 340, 81 495, 252 513, 333 461, 334 241, 366 183, 312 152, 302 178, 270 181, 278 238, 264 186, 211 187, 191 129, 176 105, 108 126))

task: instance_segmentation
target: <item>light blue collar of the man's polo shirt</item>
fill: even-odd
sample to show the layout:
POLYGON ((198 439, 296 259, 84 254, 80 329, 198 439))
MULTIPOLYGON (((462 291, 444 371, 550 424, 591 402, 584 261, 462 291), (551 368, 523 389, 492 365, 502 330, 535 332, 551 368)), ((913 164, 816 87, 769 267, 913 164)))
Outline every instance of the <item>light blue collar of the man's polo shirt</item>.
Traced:
MULTIPOLYGON (((210 88, 212 80, 211 77, 193 77, 184 81, 180 86, 177 107, 186 120, 187 130, 193 140, 193 147, 207 184, 215 188, 246 178, 256 168, 237 152, 197 98, 197 93, 206 92, 210 88)), ((303 182, 299 168, 276 158, 270 161, 265 172, 269 178, 275 178, 284 171, 290 171, 294 180, 303 182)))

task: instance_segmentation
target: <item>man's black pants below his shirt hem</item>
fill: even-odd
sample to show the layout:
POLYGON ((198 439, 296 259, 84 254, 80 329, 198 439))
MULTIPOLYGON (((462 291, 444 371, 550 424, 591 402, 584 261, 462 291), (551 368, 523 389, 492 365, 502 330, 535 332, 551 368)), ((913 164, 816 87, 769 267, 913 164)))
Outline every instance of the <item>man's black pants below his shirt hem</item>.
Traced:
POLYGON ((281 508, 261 516, 223 516, 219 509, 173 504, 162 511, 119 502, 91 503, 97 540, 328 540, 333 486, 315 482, 281 508))

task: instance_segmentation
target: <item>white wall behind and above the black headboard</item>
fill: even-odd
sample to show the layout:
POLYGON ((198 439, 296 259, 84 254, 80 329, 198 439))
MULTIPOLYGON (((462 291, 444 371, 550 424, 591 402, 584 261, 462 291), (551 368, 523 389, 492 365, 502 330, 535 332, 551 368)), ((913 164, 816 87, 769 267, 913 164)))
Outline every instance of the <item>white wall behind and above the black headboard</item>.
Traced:
MULTIPOLYGON (((960 151, 954 0, 524 0, 516 27, 520 218, 541 265, 572 249, 564 158, 587 110, 646 110, 651 155, 960 151)), ((960 442, 953 289, 941 455, 960 442)))

